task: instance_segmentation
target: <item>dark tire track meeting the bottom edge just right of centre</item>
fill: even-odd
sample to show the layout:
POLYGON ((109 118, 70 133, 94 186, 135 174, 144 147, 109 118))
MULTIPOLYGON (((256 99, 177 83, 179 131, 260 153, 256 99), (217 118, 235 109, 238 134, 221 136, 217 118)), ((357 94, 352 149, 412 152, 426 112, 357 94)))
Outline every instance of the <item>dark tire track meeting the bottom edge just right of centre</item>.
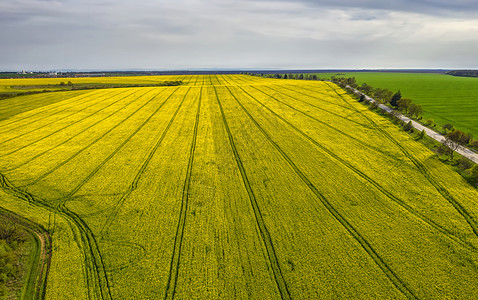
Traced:
POLYGON ((272 273, 274 275, 274 279, 277 284, 277 288, 281 294, 282 299, 291 299, 289 289, 287 287, 287 282, 282 275, 282 270, 280 268, 279 261, 277 259, 277 254, 274 249, 274 244, 272 243, 272 238, 270 236, 269 230, 264 222, 264 218, 262 216, 259 204, 257 203, 256 196, 254 191, 252 190, 251 184, 249 183, 249 179, 247 178, 246 170, 242 164, 242 160, 239 156, 239 152, 237 151, 236 144, 234 142, 234 138, 232 136, 231 130, 227 123, 226 115, 224 114, 224 109, 222 108, 221 101, 219 100, 219 96, 217 94, 216 87, 213 86, 214 93, 216 95, 217 103, 219 104, 219 110, 221 111, 222 121, 224 124, 224 128, 226 129, 226 133, 229 139, 229 144, 231 145, 232 152, 234 153, 234 158, 237 163, 237 167, 241 173, 242 181, 244 183, 244 187, 246 188, 247 194, 249 195, 249 201, 252 206, 252 210, 254 211, 254 216, 256 218, 257 227, 261 234, 262 241, 267 251, 267 255, 269 258, 269 262, 271 264, 272 273))

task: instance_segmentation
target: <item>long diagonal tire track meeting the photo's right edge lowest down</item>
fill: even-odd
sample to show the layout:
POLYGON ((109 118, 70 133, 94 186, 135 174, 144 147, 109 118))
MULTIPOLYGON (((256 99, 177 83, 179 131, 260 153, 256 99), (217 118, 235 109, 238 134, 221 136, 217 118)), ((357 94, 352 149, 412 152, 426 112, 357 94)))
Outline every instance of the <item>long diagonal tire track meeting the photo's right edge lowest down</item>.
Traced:
POLYGON ((282 117, 281 115, 279 115, 278 113, 276 113, 275 111, 273 111, 271 108, 267 107, 265 104, 263 104, 262 102, 260 102, 259 100, 257 100, 254 96, 252 96, 251 94, 249 94, 247 91, 245 91, 244 89, 242 89, 241 87, 238 87, 240 88, 246 95, 249 96, 249 98, 253 99, 254 101, 256 101, 257 103, 259 103, 259 105, 261 105, 262 107, 264 107, 265 109, 267 109, 269 112, 271 112, 274 116, 276 116, 278 119, 280 119, 282 122, 284 122, 285 124, 287 124, 289 127, 291 127, 292 129, 294 129, 296 132, 298 132, 301 136, 303 136, 306 140, 308 140, 309 142, 311 142, 312 144, 314 144, 317 148, 319 148, 320 150, 322 150, 323 152, 325 152, 326 154, 328 154, 329 156, 331 156, 332 158, 334 158, 335 160, 337 160, 339 163, 341 163, 342 165, 344 165, 345 167, 347 167, 348 169, 350 169, 352 172, 354 172, 356 175, 358 175, 359 177, 363 178, 364 180, 366 180, 368 183, 370 183, 373 187, 375 187, 378 191, 380 191, 382 194, 384 194, 386 197, 388 197, 390 200, 394 201, 395 203, 397 203, 398 205, 400 205, 403 209, 405 209, 406 211, 408 211, 409 213, 411 213, 412 215, 414 215, 415 217, 417 217, 418 219, 422 220, 423 222, 425 222, 426 224, 430 225, 431 227, 433 227, 435 230, 439 231, 440 233, 442 233, 445 237, 448 237, 449 239, 453 240, 454 242, 457 242, 459 243, 460 245, 466 247, 467 249, 469 250, 472 250, 472 251, 476 251, 477 248, 473 245, 473 244, 470 244, 469 242, 467 241, 464 241, 462 239, 460 239, 459 237, 455 236, 451 231, 447 230, 446 228, 444 228, 443 226, 439 225, 438 223, 435 223, 433 220, 431 220, 430 218, 428 218, 427 216, 423 215, 422 213, 420 213, 419 211, 417 211, 416 209, 414 209, 413 207, 411 207, 410 205, 408 205, 405 201, 403 201, 402 199, 398 198, 397 196, 393 195, 391 192, 389 192, 386 188, 384 188, 383 186, 381 186, 377 181, 375 181, 373 178, 371 178, 370 176, 368 176, 367 174, 363 173, 362 171, 360 171, 358 168, 354 167, 352 164, 350 164, 349 162, 347 162, 345 159, 341 158, 340 156, 338 156, 337 154, 335 154, 333 151, 331 151, 330 149, 328 149, 327 147, 325 147, 323 144, 317 142, 315 139, 313 139, 312 137, 310 137, 309 135, 307 135, 305 132, 303 132, 302 130, 300 130, 298 127, 296 127, 294 124, 290 123, 289 121, 287 121, 284 117, 282 117))

